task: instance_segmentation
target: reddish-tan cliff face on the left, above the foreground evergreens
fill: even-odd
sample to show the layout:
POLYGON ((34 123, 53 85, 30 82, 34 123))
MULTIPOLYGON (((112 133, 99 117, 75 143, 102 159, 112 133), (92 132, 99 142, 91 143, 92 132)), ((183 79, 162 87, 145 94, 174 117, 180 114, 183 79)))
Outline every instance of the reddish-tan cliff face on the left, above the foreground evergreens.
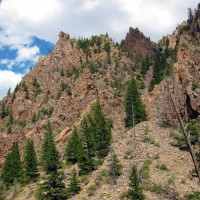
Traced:
POLYGON ((13 102, 13 94, 1 101, 1 105, 4 103, 5 107, 12 109, 15 121, 12 133, 8 134, 6 124, 9 116, 0 119, 1 164, 14 141, 19 141, 19 146, 23 149, 26 139, 31 137, 40 147, 47 120, 50 120, 57 145, 63 151, 71 127, 79 126, 82 116, 90 110, 97 96, 105 114, 117 119, 118 125, 123 124, 122 88, 129 78, 128 73, 132 70, 133 61, 126 55, 121 55, 111 39, 103 35, 99 38, 100 47, 96 44, 90 46, 91 56, 87 57, 79 48, 77 40, 70 39, 68 34, 60 32, 55 50, 49 56, 41 57, 34 69, 23 78, 13 102), (104 50, 105 43, 110 45, 110 61, 104 50), (100 49, 98 52, 97 48, 100 49), (95 72, 90 70, 92 63, 96 68, 95 72), (124 66, 127 66, 126 69, 124 66), (61 75, 61 71, 64 75, 61 75), (34 84, 34 79, 39 87, 34 84), (114 79, 121 89, 113 86, 114 79), (28 98, 24 84, 28 88, 28 98), (38 118, 35 123, 32 120, 34 115, 38 118), (26 125, 20 126, 20 120, 24 120, 26 125))

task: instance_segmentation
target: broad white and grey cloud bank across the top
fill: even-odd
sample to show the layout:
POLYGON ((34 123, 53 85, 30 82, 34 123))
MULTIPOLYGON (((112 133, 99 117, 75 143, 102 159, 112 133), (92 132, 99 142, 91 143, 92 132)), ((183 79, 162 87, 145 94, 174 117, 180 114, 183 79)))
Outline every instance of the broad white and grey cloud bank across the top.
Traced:
POLYGON ((130 26, 158 40, 187 17, 187 7, 199 0, 6 0, 0 24, 6 30, 29 33, 56 42, 60 30, 74 37, 108 32, 120 41, 130 26))

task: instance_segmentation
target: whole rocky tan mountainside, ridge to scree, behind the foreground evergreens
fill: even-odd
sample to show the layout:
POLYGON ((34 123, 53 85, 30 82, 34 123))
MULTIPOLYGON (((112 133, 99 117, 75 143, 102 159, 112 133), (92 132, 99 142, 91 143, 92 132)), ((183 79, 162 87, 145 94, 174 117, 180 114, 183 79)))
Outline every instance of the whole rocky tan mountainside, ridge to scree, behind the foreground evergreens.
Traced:
MULTIPOLYGON (((1 166, 5 165, 5 158, 16 141, 23 156, 29 138, 36 147, 40 173, 37 182, 21 186, 14 182, 5 192, 5 199, 36 199, 35 193, 48 175, 40 166, 48 124, 59 152, 65 186, 69 185, 73 170, 78 172, 81 190, 79 194, 74 192, 71 199, 127 199, 133 165, 138 168, 146 199, 181 200, 192 191, 200 192, 187 145, 184 146, 181 134, 176 135, 180 131, 169 91, 183 122, 188 124, 185 129, 189 127, 191 135, 191 130, 198 132, 200 7, 191 19, 158 44, 133 28, 121 46, 105 35, 72 39, 61 31, 55 49, 41 57, 14 92, 8 91, 0 102, 1 166), (135 126, 125 127, 127 81, 132 77, 141 93, 148 121, 141 120, 136 125, 134 120, 138 116, 132 112, 135 126), (95 158, 96 168, 82 175, 79 164, 66 164, 66 143, 73 135, 74 126, 78 131, 82 129, 85 116, 94 110, 98 100, 106 116, 105 124, 113 123, 110 151, 105 158, 95 158), (192 128, 191 120, 195 120, 192 128), (110 166, 115 154, 121 164, 121 174, 113 181, 110 166)), ((132 96, 134 99, 136 93, 132 96)), ((95 129, 95 123, 93 126, 95 129)), ((199 153, 200 136, 197 133, 195 137, 192 145, 199 153)))

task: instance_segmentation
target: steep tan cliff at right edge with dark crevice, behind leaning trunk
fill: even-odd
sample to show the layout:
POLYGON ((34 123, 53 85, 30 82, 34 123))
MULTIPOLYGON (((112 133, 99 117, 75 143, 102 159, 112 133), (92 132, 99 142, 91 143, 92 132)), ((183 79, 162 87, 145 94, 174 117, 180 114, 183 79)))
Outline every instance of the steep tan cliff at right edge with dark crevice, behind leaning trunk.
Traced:
MULTIPOLYGON (((199 13, 199 12, 198 12, 199 13)), ((200 115, 200 29, 198 28, 198 19, 194 19, 189 30, 180 33, 180 29, 186 24, 182 24, 172 36, 168 36, 169 47, 174 47, 174 38, 178 43, 177 62, 172 66, 172 78, 169 78, 170 89, 174 96, 177 108, 185 121, 196 119, 200 115), (196 27, 196 28, 194 28, 196 27)), ((160 41, 164 46, 166 38, 160 41)), ((157 117, 158 113, 162 116, 162 122, 176 125, 176 115, 172 107, 167 83, 164 79, 160 85, 155 87, 150 93, 147 105, 151 116, 157 117), (169 106, 171 104, 171 106, 169 106), (154 114, 150 109, 156 106, 154 114), (161 106, 162 105, 162 106, 161 106)))

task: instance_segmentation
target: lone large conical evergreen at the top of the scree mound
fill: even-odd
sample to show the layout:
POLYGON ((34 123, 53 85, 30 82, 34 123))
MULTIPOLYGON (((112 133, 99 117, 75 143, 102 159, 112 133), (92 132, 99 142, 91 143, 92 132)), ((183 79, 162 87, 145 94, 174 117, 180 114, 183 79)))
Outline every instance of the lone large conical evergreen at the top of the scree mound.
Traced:
POLYGON ((140 98, 134 78, 128 82, 125 97, 125 112, 126 127, 131 127, 147 119, 145 107, 140 98))

